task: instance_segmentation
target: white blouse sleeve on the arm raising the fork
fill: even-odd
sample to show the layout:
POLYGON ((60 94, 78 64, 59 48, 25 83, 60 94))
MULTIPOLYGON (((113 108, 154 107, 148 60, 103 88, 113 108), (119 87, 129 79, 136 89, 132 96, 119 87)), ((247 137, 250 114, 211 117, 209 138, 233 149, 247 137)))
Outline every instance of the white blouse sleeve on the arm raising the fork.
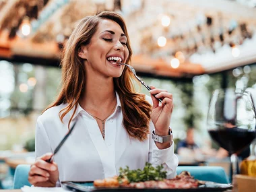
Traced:
POLYGON ((159 150, 151 136, 153 130, 154 124, 150 121, 150 151, 148 162, 153 166, 162 164, 164 170, 167 172, 167 179, 171 179, 176 176, 176 169, 179 164, 179 160, 174 154, 174 142, 172 142, 170 148, 159 150))

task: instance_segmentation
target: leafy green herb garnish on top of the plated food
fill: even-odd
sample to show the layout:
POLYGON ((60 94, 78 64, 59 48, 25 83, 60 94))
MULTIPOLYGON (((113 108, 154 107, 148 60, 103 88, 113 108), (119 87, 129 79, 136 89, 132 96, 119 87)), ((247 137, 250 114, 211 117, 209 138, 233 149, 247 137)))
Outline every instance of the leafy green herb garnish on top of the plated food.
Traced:
POLYGON ((143 170, 130 170, 128 166, 126 168, 119 169, 119 183, 122 182, 122 179, 127 179, 129 183, 140 182, 140 181, 162 181, 166 179, 166 171, 163 171, 163 166, 158 165, 156 168, 152 166, 149 162, 146 162, 143 170))

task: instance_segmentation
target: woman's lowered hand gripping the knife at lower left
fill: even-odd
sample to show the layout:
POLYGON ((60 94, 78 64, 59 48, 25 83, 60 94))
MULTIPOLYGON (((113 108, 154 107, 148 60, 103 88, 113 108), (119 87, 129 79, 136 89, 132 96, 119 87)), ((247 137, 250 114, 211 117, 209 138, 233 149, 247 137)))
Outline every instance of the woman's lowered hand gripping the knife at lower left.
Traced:
POLYGON ((56 162, 46 162, 53 156, 47 153, 37 158, 28 173, 28 181, 36 187, 56 187, 59 170, 56 162))

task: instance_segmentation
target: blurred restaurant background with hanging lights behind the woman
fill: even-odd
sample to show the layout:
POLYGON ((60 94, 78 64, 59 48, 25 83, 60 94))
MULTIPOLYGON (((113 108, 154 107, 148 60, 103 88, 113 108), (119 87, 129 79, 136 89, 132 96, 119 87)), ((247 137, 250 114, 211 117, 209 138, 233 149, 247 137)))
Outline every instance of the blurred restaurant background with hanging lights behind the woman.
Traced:
POLYGON ((0 0, 0 189, 12 187, 15 166, 34 162, 36 119, 60 88, 65 40, 102 10, 125 18, 137 75, 173 94, 175 148, 194 128, 198 148, 176 149, 180 165, 218 165, 230 176, 207 111, 216 89, 256 92, 256 1, 0 0))

